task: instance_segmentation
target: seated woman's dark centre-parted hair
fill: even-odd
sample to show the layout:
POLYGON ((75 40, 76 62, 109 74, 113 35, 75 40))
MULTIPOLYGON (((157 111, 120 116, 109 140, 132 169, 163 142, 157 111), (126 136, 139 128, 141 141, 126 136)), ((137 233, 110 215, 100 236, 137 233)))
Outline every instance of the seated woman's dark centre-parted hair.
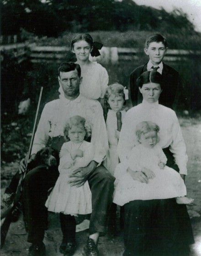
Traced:
POLYGON ((144 84, 156 83, 160 85, 160 88, 163 89, 163 79, 157 71, 146 71, 140 75, 137 79, 138 87, 142 88, 144 84))

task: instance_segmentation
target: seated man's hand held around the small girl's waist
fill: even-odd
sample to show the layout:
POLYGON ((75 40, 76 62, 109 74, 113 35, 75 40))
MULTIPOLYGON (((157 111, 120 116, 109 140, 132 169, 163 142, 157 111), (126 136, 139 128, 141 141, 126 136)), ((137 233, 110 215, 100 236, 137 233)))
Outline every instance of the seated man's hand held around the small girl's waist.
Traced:
POLYGON ((77 170, 74 170, 72 174, 69 176, 73 178, 69 181, 71 186, 81 187, 85 184, 88 175, 90 172, 94 171, 98 163, 95 161, 91 161, 90 164, 86 167, 80 167, 77 170))

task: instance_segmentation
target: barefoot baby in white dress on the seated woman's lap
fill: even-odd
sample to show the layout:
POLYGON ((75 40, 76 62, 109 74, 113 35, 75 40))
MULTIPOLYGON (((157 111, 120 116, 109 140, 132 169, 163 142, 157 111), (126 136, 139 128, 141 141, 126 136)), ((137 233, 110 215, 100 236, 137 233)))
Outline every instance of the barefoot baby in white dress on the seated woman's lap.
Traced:
POLYGON ((192 205, 194 199, 185 197, 186 187, 180 174, 166 164, 167 158, 159 146, 159 126, 141 122, 136 126, 139 145, 135 146, 128 159, 129 168, 142 171, 148 183, 133 180, 128 172, 121 181, 116 181, 113 202, 124 205, 133 200, 176 198, 178 204, 192 205))

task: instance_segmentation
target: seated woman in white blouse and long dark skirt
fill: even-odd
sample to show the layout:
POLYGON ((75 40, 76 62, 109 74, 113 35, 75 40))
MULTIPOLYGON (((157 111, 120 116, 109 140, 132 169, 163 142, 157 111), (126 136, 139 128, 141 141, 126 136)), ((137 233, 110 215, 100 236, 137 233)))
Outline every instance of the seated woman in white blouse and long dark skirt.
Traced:
MULTIPOLYGON (((132 171, 128 168, 129 155, 138 145, 136 126, 145 121, 159 126, 158 144, 167 158, 166 165, 179 172, 185 180, 188 157, 178 118, 173 110, 158 102, 163 87, 162 76, 156 71, 144 72, 138 78, 138 87, 143 102, 130 109, 124 118, 118 144, 121 163, 115 171, 116 179, 121 181, 127 172, 134 181, 143 183, 149 183, 153 177, 151 170, 147 176, 142 169, 132 171)), ((175 198, 153 197, 150 200, 131 199, 124 206, 123 256, 189 255, 189 245, 194 243, 194 239, 185 204, 176 203, 175 198)))

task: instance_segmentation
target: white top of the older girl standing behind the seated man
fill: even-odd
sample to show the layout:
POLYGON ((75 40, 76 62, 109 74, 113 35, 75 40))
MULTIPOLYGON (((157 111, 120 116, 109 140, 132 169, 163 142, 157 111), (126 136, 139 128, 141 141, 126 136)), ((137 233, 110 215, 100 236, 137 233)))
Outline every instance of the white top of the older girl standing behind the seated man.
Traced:
POLYGON ((85 72, 81 70, 81 76, 83 79, 79 87, 80 94, 93 100, 104 97, 108 85, 108 74, 102 65, 92 62, 90 69, 86 69, 85 72))

